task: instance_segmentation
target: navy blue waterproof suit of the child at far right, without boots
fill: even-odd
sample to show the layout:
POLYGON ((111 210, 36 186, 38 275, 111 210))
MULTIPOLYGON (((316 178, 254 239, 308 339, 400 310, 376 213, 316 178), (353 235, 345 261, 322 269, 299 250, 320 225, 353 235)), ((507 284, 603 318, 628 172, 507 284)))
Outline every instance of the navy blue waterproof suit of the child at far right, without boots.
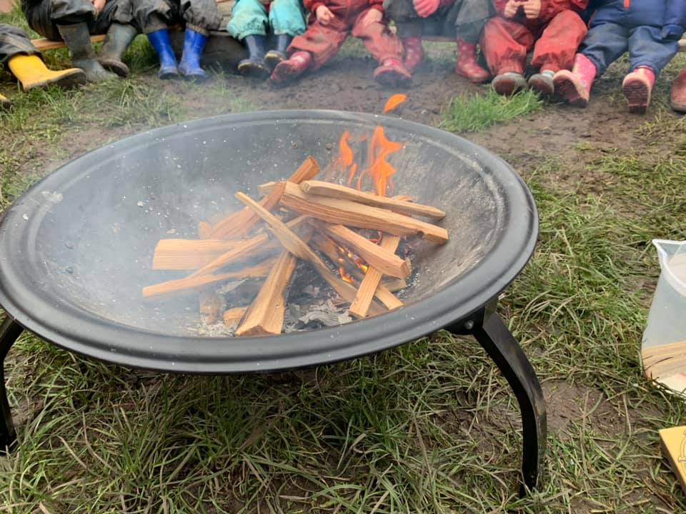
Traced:
POLYGON ((597 0, 580 51, 602 75, 629 51, 630 71, 647 66, 655 75, 679 51, 686 31, 686 0, 597 0))

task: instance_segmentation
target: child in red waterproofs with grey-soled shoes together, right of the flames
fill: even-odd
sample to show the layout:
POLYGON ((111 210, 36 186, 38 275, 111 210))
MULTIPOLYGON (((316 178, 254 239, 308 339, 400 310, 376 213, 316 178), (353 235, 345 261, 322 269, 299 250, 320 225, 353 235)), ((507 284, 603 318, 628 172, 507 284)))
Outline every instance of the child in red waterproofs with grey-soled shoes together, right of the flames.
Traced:
POLYGON ((588 0, 494 0, 499 16, 489 19, 481 37, 481 50, 495 76, 493 88, 512 94, 527 86, 527 53, 538 70, 528 85, 544 94, 554 93, 553 76, 571 69, 574 54, 586 35, 579 15, 588 0))

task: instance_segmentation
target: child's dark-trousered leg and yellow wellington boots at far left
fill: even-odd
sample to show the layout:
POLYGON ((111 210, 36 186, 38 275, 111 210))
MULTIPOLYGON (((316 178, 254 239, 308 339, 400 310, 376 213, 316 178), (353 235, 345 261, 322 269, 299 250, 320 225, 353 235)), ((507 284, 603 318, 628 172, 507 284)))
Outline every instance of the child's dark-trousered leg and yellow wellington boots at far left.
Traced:
MULTIPOLYGON (((0 62, 9 68, 24 91, 51 84, 61 87, 86 84, 86 74, 83 70, 47 69, 41 59, 41 53, 31 44, 26 32, 7 24, 0 24, 0 62)), ((11 102, 0 95, 0 107, 9 106, 11 102)))

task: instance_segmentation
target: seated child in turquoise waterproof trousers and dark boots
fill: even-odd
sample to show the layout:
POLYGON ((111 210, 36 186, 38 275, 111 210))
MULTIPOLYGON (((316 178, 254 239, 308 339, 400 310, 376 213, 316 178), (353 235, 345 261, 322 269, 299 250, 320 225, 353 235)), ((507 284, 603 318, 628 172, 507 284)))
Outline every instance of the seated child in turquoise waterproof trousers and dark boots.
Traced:
POLYGON ((227 31, 234 39, 243 41, 248 49, 249 56, 239 62, 238 71, 266 79, 274 67, 286 59, 293 37, 305 31, 305 16, 302 0, 262 1, 237 0, 227 31), (267 29, 277 36, 277 46, 265 54, 267 29))

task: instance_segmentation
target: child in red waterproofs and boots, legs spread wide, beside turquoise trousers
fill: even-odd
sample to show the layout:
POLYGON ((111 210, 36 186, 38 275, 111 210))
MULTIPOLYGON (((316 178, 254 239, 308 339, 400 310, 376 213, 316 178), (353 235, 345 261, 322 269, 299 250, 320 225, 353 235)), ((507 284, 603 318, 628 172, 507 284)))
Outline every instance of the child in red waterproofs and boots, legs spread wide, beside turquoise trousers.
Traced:
POLYGON ((379 62, 374 79, 384 86, 409 86, 412 74, 402 64, 402 43, 384 21, 382 0, 305 0, 312 12, 309 26, 290 44, 289 59, 272 73, 274 84, 285 84, 308 69, 319 69, 338 54, 349 34, 379 62), (351 32, 352 30, 352 32, 351 32))

